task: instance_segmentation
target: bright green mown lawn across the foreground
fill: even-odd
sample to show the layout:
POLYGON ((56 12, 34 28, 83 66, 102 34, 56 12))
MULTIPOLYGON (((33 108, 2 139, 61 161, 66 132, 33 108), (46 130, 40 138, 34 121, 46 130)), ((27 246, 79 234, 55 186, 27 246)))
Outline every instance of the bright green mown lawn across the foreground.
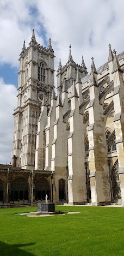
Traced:
POLYGON ((27 217, 36 207, 0 209, 0 255, 124 255, 124 209, 55 206, 78 214, 27 217))

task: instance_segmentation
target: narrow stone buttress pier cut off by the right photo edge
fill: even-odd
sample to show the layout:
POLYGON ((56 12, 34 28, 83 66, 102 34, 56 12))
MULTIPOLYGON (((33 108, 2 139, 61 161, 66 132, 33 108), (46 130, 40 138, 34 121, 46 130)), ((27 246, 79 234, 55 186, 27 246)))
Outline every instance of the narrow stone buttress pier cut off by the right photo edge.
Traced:
POLYGON ((123 77, 120 64, 116 58, 116 51, 114 50, 113 60, 113 102, 114 102, 114 127, 116 136, 117 157, 119 160, 119 176, 122 205, 124 205, 124 88, 123 77))

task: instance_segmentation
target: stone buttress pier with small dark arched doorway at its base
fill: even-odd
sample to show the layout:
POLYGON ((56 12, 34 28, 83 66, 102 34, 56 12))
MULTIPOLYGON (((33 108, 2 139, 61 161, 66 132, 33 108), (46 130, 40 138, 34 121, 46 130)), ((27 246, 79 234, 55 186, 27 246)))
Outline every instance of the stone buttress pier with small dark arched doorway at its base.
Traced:
POLYGON ((59 180, 65 180, 65 200, 67 200, 67 138, 66 123, 63 122, 63 104, 58 91, 56 120, 54 122, 54 139, 52 142, 51 170, 54 173, 54 201, 59 201, 59 180))

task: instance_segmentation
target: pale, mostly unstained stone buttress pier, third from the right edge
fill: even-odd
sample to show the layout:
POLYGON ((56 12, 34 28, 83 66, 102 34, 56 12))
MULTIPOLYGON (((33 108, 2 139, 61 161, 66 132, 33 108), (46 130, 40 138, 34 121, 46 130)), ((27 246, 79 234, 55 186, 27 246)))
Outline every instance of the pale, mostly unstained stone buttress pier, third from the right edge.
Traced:
POLYGON ((68 197, 70 204, 86 202, 85 147, 83 117, 79 114, 78 94, 73 81, 71 93, 70 134, 68 136, 68 197))

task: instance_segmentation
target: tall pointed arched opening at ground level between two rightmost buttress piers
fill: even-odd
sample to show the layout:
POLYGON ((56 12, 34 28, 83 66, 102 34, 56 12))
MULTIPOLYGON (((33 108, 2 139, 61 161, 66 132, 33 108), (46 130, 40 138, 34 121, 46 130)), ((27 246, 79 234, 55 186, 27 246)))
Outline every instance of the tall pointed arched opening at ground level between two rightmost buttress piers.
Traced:
POLYGON ((111 170, 111 182, 113 188, 113 201, 115 203, 121 201, 121 189, 119 179, 119 162, 116 160, 113 169, 111 170))

